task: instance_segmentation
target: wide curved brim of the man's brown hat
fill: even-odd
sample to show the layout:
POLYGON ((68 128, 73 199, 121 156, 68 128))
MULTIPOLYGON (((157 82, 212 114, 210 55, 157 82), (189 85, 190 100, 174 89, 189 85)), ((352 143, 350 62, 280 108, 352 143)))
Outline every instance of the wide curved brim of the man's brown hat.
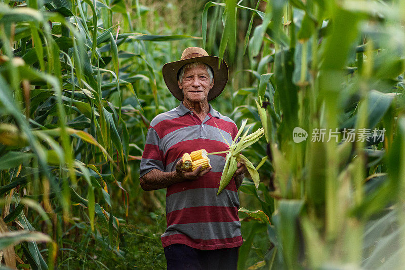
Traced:
POLYGON ((228 65, 224 60, 221 61, 221 65, 218 68, 219 57, 217 56, 199 56, 179 60, 175 62, 166 63, 163 66, 162 73, 166 86, 175 98, 183 100, 183 91, 179 88, 177 82, 177 73, 180 68, 186 64, 200 62, 209 65, 214 72, 214 86, 208 93, 208 101, 218 97, 224 90, 226 83, 228 82, 228 65))

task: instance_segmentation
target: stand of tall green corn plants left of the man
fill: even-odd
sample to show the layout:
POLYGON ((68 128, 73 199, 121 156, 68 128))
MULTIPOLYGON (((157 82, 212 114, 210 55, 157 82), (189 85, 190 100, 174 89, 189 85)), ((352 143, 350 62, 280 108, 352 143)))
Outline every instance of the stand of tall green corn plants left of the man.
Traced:
POLYGON ((69 267, 82 257, 97 268, 106 252, 123 258, 126 220, 116 207, 128 217, 131 162, 148 119, 166 110, 159 100, 176 104, 158 77, 172 47, 152 55, 153 44, 196 39, 150 34, 147 11, 138 1, 0 4, 0 262, 8 267, 69 267), (90 242, 83 256, 70 248, 90 242))

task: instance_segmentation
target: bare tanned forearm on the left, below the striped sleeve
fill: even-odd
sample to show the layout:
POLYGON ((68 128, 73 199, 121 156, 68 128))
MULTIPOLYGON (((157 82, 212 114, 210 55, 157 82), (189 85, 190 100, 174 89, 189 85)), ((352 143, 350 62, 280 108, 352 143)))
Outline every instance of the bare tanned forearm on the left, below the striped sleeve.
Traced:
POLYGON ((172 184, 183 181, 177 174, 173 172, 162 172, 153 169, 139 179, 143 190, 156 190, 166 188, 172 184))

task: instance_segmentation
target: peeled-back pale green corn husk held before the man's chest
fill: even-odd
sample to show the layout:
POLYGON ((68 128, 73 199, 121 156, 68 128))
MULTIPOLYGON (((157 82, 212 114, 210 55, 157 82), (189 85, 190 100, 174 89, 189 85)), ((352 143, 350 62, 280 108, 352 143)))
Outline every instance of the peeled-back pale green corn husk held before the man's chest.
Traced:
POLYGON ((221 130, 217 127, 222 138, 225 140, 225 142, 229 146, 229 150, 221 151, 221 152, 213 152, 213 153, 208 154, 208 155, 216 155, 219 153, 227 153, 226 158, 225 158, 225 166, 224 166, 224 170, 222 171, 221 181, 219 183, 217 196, 231 181, 233 174, 237 170, 238 162, 245 164, 246 168, 248 169, 248 172, 252 176, 252 179, 253 179, 253 182, 255 183, 256 188, 259 187, 259 182, 260 182, 259 173, 257 172, 255 166, 253 166, 252 162, 250 162, 244 155, 240 154, 240 151, 249 147, 250 145, 254 144, 255 142, 257 142, 264 135, 264 130, 263 130, 263 128, 260 128, 257 131, 248 135, 248 133, 249 133, 249 128, 248 128, 248 130, 240 138, 239 142, 236 142, 237 138, 240 136, 240 134, 245 129, 246 122, 247 122, 247 120, 242 121, 242 125, 240 126, 240 129, 239 129, 238 133, 236 134, 235 139, 232 141, 232 144, 229 144, 226 141, 225 137, 221 133, 221 130))

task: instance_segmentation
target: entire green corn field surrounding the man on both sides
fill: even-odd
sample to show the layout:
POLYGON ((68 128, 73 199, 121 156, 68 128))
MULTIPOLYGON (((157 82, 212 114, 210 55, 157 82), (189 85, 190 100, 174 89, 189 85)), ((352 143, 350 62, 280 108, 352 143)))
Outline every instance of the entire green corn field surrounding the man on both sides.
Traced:
POLYGON ((264 129, 238 193, 239 269, 405 263, 405 1, 3 0, 0 267, 164 269, 145 192, 161 68, 227 61, 213 107, 264 129))

